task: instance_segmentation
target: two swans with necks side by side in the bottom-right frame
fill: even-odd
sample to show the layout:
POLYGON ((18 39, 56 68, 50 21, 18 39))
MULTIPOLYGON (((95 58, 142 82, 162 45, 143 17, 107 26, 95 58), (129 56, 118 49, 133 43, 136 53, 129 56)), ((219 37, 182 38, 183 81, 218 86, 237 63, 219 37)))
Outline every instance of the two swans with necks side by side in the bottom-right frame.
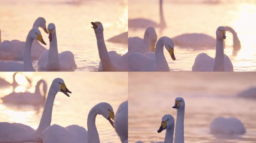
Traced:
MULTIPOLYGON (((184 115, 185 115, 185 101, 183 98, 178 97, 175 99, 173 108, 177 109, 176 128, 174 143, 184 143, 184 115)), ((165 132, 164 142, 151 142, 151 143, 173 143, 174 134, 174 118, 170 114, 166 114, 162 117, 161 126, 158 129, 158 133, 163 130, 165 132)), ((142 142, 136 142, 142 143, 142 142)))

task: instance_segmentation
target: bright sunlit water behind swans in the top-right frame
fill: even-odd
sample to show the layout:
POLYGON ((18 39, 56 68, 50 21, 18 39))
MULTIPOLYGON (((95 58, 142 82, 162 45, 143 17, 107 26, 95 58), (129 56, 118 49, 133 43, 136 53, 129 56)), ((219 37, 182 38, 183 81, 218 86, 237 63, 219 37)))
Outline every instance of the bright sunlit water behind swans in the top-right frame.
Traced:
MULTIPOLYGON (((185 33, 204 33, 216 37, 218 26, 231 26, 237 32, 241 50, 232 55, 233 38, 226 32, 224 53, 231 59, 234 71, 256 70, 256 3, 253 0, 163 0, 164 18, 167 28, 161 36, 174 37, 185 33), (216 1, 211 3, 209 1, 216 1)), ((129 18, 147 18, 159 23, 159 0, 129 0, 129 18), (141 7, 143 5, 143 7, 141 7)), ((130 36, 143 38, 145 29, 130 29, 130 36)), ((215 57, 214 50, 188 50, 175 46, 176 61, 164 51, 172 71, 191 71, 196 55, 207 53, 215 57)))

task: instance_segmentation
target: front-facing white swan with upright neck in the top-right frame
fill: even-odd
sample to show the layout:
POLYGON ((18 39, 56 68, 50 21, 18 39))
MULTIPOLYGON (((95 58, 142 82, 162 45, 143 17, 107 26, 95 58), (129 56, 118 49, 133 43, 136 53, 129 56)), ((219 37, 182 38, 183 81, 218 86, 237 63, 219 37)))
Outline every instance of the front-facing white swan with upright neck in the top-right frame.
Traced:
POLYGON ((226 39, 226 32, 223 26, 216 30, 216 54, 215 58, 205 53, 198 54, 195 58, 192 71, 234 71, 233 64, 229 57, 224 54, 223 39, 226 39))

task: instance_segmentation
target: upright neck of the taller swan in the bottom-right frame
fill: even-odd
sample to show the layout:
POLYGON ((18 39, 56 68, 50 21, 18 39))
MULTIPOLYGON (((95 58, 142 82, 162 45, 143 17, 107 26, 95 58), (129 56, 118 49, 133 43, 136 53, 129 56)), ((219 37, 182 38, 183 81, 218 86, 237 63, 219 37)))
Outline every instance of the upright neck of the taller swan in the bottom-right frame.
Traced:
POLYGON ((174 143, 184 143, 184 115, 185 115, 185 107, 183 110, 177 109, 174 143))

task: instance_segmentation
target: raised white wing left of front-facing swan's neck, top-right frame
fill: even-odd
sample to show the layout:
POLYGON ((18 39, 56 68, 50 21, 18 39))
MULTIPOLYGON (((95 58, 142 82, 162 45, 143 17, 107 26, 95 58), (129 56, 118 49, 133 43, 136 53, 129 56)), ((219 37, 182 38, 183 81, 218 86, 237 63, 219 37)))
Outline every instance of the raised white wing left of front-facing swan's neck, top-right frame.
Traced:
POLYGON ((195 58, 192 71, 213 71, 214 58, 206 53, 200 53, 195 58))

